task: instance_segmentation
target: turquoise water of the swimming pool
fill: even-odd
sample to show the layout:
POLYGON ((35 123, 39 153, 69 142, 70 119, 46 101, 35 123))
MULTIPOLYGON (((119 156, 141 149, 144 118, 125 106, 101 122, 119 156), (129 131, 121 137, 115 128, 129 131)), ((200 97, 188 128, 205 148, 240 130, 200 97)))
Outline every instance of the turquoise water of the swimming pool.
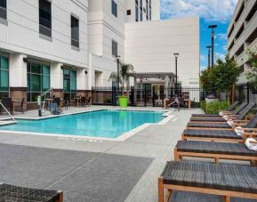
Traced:
POLYGON ((19 120, 16 125, 0 126, 0 130, 116 138, 142 124, 159 122, 162 114, 152 111, 100 110, 37 121, 19 120))

